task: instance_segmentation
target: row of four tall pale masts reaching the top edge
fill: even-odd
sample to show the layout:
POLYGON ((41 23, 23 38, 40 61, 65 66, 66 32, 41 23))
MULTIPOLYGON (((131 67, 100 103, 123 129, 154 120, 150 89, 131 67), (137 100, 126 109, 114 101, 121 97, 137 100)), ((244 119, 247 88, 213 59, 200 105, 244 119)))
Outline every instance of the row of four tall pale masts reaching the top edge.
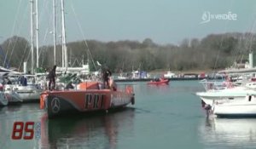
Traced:
MULTIPOLYGON (((34 73, 34 20, 33 14, 36 14, 36 44, 37 44, 37 68, 39 67, 39 50, 38 50, 38 0, 35 0, 36 12, 34 13, 34 0, 31 0, 31 54, 32 54, 32 74, 34 73)), ((64 16, 64 0, 61 0, 61 39, 62 39, 62 67, 67 70, 67 40, 64 16)), ((54 65, 56 65, 56 34, 55 34, 55 0, 53 0, 53 41, 54 41, 54 65)))

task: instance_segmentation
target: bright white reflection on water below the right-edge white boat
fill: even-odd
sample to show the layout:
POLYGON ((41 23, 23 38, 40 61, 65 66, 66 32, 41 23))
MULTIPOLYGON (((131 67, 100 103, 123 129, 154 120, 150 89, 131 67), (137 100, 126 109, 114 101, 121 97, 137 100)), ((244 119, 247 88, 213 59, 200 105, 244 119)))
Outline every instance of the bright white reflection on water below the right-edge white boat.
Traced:
POLYGON ((256 146, 256 119, 207 118, 200 126, 201 140, 208 147, 256 146))

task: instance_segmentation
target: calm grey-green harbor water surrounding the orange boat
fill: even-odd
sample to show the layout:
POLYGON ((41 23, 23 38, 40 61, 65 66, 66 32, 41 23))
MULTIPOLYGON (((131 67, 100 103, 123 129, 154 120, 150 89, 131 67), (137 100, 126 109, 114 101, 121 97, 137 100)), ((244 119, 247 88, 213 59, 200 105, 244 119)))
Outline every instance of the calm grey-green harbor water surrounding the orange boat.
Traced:
POLYGON ((0 148, 255 148, 256 118, 207 118, 198 81, 131 84, 136 103, 123 110, 48 119, 39 103, 0 107, 0 148), (15 126, 15 123, 17 126, 15 126), (21 124, 24 126, 21 128, 21 124), (26 124, 28 125, 26 128, 26 124), (33 129, 30 125, 33 124, 33 129), (18 126, 19 125, 19 126, 18 126), (24 139, 24 135, 33 136, 24 139), (13 132, 20 138, 13 138, 13 132))

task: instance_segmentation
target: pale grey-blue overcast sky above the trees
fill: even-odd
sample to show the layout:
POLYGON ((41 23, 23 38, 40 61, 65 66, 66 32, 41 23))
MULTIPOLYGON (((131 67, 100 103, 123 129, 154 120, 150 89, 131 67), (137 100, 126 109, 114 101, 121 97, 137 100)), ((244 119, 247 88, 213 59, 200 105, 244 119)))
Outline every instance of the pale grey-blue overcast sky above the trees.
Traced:
MULTIPOLYGON (((52 44, 52 0, 38 1, 39 46, 52 44)), ((55 1, 60 35, 61 0, 55 1)), ((211 33, 255 32, 255 0, 66 0, 65 4, 67 42, 141 42, 149 37, 154 43, 179 44, 184 38, 211 33)), ((0 43, 14 35, 30 40, 30 0, 0 0, 0 11, 0 43)))

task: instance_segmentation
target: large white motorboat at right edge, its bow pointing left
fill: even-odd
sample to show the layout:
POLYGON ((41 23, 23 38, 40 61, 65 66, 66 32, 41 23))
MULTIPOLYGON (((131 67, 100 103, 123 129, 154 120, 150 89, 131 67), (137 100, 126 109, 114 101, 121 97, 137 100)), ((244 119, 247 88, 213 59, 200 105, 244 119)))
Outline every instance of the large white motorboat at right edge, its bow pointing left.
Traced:
POLYGON ((256 116, 256 90, 246 86, 228 86, 222 89, 212 86, 211 89, 197 92, 196 95, 200 96, 207 113, 219 117, 256 116))

